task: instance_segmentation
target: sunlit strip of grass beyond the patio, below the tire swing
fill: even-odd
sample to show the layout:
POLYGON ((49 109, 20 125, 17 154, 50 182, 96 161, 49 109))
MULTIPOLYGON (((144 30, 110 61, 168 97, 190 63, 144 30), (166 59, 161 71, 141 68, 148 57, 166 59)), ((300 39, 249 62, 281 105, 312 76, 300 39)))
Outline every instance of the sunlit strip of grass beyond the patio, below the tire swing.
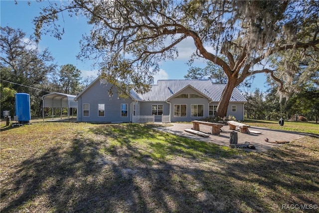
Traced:
POLYGON ((267 127, 270 129, 278 129, 293 132, 303 132, 319 135, 319 123, 313 122, 292 122, 285 121, 284 126, 280 126, 278 121, 267 121, 267 120, 245 120, 243 123, 258 126, 267 127))

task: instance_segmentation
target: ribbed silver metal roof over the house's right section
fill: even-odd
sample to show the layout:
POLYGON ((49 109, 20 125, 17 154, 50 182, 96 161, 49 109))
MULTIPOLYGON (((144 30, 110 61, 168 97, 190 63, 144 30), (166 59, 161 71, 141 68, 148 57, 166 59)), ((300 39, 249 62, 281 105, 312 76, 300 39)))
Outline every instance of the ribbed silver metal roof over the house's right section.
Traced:
MULTIPOLYGON (((158 80, 152 89, 144 94, 138 94, 142 101, 166 101, 179 91, 191 86, 209 97, 212 102, 219 102, 226 84, 213 84, 210 80, 158 80)), ((237 88, 234 88, 230 102, 247 102, 237 88)))

